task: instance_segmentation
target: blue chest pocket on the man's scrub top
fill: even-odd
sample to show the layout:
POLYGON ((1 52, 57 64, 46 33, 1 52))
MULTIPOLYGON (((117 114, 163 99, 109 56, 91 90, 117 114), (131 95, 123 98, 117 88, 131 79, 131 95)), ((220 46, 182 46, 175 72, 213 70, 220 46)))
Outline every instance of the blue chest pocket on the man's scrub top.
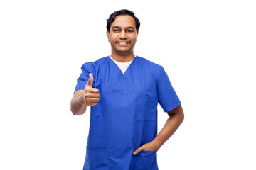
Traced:
POLYGON ((137 105, 137 121, 154 121, 157 115, 157 101, 146 94, 139 94, 137 105))

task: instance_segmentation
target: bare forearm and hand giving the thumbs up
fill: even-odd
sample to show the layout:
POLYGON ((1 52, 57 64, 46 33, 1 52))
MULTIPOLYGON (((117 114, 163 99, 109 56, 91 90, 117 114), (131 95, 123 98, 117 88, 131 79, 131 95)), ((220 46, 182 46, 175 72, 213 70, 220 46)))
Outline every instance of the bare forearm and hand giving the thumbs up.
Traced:
POLYGON ((75 94, 70 103, 70 110, 73 115, 82 115, 86 111, 87 106, 97 105, 100 101, 99 90, 92 88, 93 76, 89 74, 89 80, 85 85, 84 90, 75 91, 75 94))

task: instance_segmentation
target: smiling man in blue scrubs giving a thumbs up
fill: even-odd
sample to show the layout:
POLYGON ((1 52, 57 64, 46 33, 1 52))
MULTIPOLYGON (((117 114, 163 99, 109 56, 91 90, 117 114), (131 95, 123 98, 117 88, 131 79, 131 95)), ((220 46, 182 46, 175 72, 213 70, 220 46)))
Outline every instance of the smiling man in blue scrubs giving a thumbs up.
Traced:
POLYGON ((134 55, 139 19, 115 11, 107 19, 111 56, 82 65, 71 100, 74 115, 91 106, 84 169, 158 169, 156 151, 183 121, 163 67, 134 55), (157 135, 157 104, 169 118, 157 135))

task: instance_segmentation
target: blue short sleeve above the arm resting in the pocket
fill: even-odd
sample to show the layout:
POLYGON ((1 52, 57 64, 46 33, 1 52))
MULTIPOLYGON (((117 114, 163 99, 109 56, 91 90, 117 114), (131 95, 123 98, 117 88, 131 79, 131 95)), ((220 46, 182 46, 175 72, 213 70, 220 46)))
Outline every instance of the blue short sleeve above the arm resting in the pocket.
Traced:
POLYGON ((157 84, 157 93, 159 96, 159 104, 161 108, 164 109, 164 112, 171 111, 181 104, 163 67, 161 67, 161 74, 157 84))

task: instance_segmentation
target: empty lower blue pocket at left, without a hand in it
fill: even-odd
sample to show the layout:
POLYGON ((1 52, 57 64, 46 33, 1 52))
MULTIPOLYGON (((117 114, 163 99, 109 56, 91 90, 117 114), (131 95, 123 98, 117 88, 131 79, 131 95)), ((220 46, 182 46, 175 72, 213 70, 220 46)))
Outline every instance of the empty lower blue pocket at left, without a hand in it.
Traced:
POLYGON ((86 157, 83 170, 107 170, 108 152, 107 149, 86 148, 86 157))

